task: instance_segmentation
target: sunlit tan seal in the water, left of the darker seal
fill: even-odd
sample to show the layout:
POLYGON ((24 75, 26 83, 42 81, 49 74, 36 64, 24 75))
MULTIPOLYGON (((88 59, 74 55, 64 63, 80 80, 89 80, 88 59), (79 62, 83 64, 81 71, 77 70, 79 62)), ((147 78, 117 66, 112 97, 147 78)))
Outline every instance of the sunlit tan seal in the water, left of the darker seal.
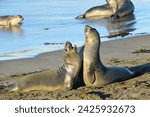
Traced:
POLYGON ((117 9, 116 0, 106 0, 107 4, 101 6, 95 6, 87 10, 83 15, 77 16, 75 19, 84 19, 91 17, 110 17, 117 9))

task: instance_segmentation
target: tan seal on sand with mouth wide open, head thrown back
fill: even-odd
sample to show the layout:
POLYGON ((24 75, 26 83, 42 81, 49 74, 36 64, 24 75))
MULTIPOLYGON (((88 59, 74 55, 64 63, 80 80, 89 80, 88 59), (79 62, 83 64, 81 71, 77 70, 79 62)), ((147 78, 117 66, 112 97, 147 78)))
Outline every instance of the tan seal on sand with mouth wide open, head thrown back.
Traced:
POLYGON ((78 77, 81 68, 81 59, 77 53, 77 46, 66 42, 64 48, 64 65, 54 70, 24 76, 17 82, 8 85, 10 91, 31 90, 69 90, 78 77))

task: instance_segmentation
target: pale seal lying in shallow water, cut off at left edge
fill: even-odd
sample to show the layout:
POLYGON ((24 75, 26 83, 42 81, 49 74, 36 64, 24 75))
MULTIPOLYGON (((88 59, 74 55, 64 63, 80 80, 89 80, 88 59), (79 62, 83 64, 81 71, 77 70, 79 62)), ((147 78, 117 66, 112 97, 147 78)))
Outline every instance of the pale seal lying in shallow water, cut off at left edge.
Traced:
POLYGON ((24 18, 21 15, 16 16, 0 16, 0 26, 20 26, 24 18))

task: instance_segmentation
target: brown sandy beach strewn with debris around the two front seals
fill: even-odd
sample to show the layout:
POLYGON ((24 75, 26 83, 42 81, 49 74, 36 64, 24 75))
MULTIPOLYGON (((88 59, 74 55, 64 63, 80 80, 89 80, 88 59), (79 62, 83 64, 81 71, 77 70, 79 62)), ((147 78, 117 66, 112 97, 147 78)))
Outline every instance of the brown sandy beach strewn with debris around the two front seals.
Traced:
MULTIPOLYGON (((103 42, 101 59, 106 66, 132 67, 150 63, 150 35, 103 42)), ((79 87, 70 91, 8 92, 5 86, 24 75, 53 69, 63 64, 63 51, 34 58, 0 61, 0 99, 150 99, 150 71, 104 87, 79 87)))

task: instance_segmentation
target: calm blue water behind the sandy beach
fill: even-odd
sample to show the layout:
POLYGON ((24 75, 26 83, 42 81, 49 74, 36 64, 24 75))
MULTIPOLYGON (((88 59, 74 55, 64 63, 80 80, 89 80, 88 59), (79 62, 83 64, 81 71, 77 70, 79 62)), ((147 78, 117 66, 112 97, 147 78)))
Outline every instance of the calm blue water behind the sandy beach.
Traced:
POLYGON ((22 15, 21 27, 0 27, 0 60, 34 57, 39 53, 64 48, 66 41, 84 44, 84 27, 95 27, 102 41, 110 34, 127 31, 128 36, 150 33, 150 0, 132 0, 134 16, 111 23, 110 19, 76 20, 87 9, 105 0, 0 0, 0 16, 22 15))

